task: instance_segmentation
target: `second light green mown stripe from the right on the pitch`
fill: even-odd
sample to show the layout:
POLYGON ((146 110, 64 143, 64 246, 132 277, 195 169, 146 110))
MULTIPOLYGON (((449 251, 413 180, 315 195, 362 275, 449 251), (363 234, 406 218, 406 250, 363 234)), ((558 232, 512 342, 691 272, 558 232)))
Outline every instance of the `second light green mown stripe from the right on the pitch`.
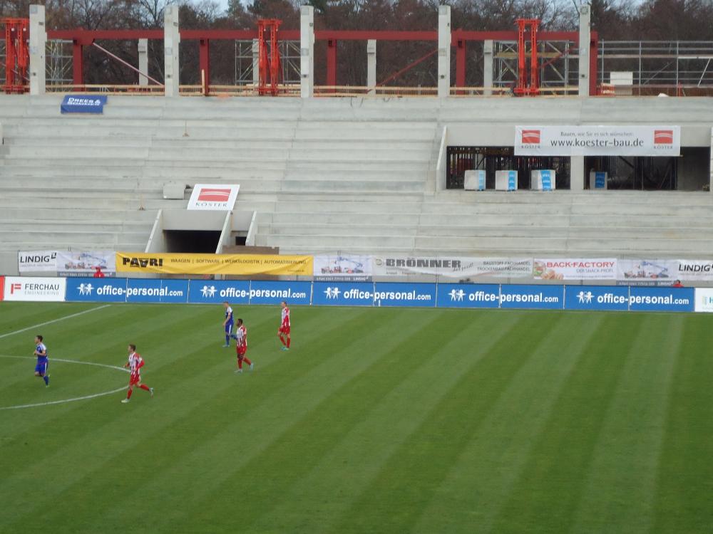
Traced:
POLYGON ((483 532, 506 505, 563 384, 586 347, 605 330, 604 315, 568 315, 532 347, 532 357, 488 409, 478 431, 420 513, 414 532, 483 532))

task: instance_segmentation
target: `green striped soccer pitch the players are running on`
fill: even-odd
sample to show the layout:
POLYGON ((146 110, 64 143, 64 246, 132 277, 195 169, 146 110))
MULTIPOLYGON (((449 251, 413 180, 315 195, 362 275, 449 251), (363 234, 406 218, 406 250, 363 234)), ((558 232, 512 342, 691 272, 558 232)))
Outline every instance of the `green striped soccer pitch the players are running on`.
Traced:
POLYGON ((0 303, 0 532, 713 528, 707 315, 294 307, 289 352, 235 317, 243 375, 220 305, 0 303), (153 399, 63 402, 130 342, 153 399))

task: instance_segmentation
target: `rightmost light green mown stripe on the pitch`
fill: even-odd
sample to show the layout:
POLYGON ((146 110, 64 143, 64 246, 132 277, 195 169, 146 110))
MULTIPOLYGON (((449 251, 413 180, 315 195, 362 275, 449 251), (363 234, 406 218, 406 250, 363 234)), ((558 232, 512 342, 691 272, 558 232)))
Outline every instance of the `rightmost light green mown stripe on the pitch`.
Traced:
POLYGON ((673 369, 681 350, 682 316, 650 315, 642 322, 612 399, 575 530, 647 533, 654 515, 656 468, 673 369))

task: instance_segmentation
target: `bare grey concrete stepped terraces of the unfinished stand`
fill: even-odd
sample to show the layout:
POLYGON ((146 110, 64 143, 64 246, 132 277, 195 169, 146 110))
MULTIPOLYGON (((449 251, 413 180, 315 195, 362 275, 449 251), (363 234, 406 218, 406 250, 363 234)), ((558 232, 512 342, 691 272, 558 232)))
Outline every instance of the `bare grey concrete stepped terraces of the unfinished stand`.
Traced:
POLYGON ((708 194, 436 192, 443 122, 482 103, 111 97, 67 116, 60 100, 0 99, 0 253, 143 250, 158 209, 187 202, 163 199, 172 181, 240 184, 256 244, 287 253, 665 257, 713 237, 708 194))

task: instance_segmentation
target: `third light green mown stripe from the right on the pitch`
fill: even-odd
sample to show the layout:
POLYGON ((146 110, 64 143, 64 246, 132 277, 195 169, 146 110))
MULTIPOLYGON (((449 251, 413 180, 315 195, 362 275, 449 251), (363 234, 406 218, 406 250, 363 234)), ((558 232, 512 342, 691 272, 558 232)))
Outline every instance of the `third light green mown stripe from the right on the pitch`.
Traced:
POLYGON ((287 495, 262 508, 260 518, 250 525, 252 530, 276 530, 308 513, 313 518, 309 527, 313 532, 336 532, 333 521, 353 505, 396 448, 422 424, 429 414, 424 407, 440 402, 448 385, 456 383, 517 324, 515 318, 491 315, 472 325, 470 314, 454 310, 448 316, 453 333, 447 341, 431 353, 412 351, 424 364, 381 402, 363 410, 359 422, 344 432, 339 443, 293 484, 287 495), (473 344, 485 333, 492 337, 478 342, 472 355, 464 355, 463 345, 473 344))

